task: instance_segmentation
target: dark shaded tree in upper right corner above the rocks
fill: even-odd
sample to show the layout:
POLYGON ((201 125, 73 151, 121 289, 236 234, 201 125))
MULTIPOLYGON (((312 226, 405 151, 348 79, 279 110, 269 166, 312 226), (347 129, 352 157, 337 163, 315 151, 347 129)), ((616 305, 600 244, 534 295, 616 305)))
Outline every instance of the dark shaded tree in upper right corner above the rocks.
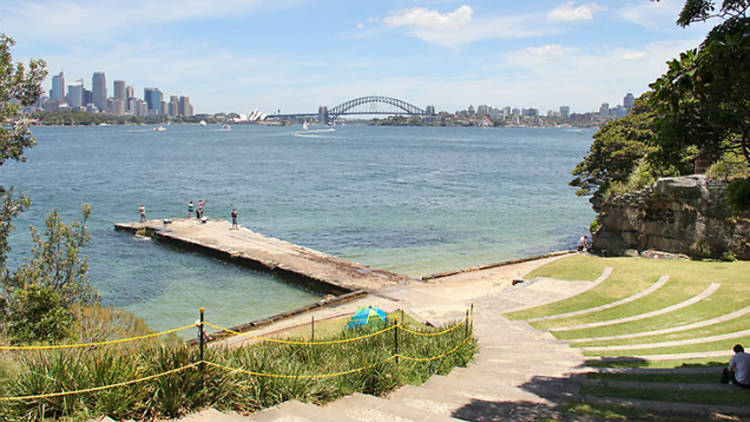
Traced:
POLYGON ((721 17, 699 48, 668 63, 650 85, 658 134, 653 155, 678 164, 686 158, 741 154, 750 164, 750 18, 748 1, 688 0, 677 23, 721 17))

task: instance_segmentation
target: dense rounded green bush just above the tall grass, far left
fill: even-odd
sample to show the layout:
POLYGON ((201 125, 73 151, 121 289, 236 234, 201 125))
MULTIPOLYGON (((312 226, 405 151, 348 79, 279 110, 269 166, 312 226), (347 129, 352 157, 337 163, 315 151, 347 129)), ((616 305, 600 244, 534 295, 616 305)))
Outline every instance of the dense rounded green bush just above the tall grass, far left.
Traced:
POLYGON ((9 310, 8 331, 17 342, 59 341, 72 331, 73 316, 49 286, 16 289, 9 310))

